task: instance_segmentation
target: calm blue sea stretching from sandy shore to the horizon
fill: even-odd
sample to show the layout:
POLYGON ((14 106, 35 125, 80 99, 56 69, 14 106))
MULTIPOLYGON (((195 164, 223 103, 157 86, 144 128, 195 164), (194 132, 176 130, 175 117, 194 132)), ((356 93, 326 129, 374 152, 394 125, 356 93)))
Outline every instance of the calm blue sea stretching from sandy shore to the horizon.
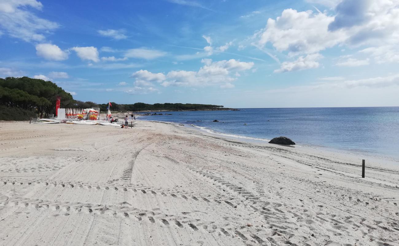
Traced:
POLYGON ((163 115, 142 116, 140 120, 176 122, 222 136, 260 142, 286 136, 297 146, 399 161, 399 107, 240 108, 239 111, 157 113, 163 115))

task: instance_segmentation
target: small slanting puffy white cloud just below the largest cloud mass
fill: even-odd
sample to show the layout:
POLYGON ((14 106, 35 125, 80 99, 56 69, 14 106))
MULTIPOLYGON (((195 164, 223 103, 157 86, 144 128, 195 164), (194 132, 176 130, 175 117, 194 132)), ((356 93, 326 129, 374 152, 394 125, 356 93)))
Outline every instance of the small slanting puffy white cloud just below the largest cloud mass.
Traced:
POLYGON ((319 63, 317 62, 318 59, 322 58, 323 56, 316 53, 310 54, 305 57, 300 56, 297 60, 293 62, 283 62, 279 69, 274 70, 275 73, 280 72, 292 72, 298 70, 304 70, 309 68, 318 68, 319 63))

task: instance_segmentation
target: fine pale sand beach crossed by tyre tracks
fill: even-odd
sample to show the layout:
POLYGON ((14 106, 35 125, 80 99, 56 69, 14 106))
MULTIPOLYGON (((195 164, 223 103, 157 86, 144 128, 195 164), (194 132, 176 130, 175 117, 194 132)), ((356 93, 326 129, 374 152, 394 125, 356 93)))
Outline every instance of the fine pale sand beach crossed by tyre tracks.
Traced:
POLYGON ((360 175, 175 124, 0 122, 0 245, 399 245, 399 166, 360 175))

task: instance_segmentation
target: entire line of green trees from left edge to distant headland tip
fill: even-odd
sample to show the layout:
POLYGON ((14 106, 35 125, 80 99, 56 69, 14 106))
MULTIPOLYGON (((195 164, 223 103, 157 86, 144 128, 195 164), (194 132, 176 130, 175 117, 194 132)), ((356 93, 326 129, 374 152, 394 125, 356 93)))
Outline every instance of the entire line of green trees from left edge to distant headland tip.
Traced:
MULTIPOLYGON (((0 120, 29 120, 30 117, 47 117, 55 114, 57 96, 61 108, 100 108, 107 111, 108 104, 73 100, 71 94, 51 81, 22 77, 0 78, 0 120)), ((117 104, 111 102, 111 111, 179 111, 179 110, 229 110, 221 105, 156 103, 117 104)))

